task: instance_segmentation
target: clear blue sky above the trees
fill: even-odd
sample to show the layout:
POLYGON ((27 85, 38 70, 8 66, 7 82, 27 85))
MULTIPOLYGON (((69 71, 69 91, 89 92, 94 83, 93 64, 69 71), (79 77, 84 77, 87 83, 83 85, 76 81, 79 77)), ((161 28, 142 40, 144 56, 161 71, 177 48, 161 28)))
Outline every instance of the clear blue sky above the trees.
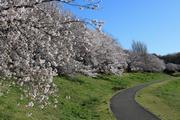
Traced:
POLYGON ((103 30, 123 48, 138 40, 150 53, 180 52, 180 0, 102 0, 97 11, 65 8, 80 18, 105 21, 103 30))

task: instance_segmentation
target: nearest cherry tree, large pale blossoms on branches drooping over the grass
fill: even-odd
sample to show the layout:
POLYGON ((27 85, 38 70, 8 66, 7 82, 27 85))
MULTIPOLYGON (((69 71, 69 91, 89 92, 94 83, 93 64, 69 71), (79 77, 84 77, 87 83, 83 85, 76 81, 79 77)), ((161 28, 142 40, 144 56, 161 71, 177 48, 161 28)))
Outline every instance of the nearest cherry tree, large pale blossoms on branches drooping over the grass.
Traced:
POLYGON ((57 66, 72 61, 74 46, 71 43, 78 36, 73 32, 78 29, 74 23, 81 24, 83 29, 87 23, 57 8, 56 2, 86 9, 96 9, 99 3, 0 0, 0 75, 27 86, 27 96, 40 102, 55 92, 53 76, 57 66))

